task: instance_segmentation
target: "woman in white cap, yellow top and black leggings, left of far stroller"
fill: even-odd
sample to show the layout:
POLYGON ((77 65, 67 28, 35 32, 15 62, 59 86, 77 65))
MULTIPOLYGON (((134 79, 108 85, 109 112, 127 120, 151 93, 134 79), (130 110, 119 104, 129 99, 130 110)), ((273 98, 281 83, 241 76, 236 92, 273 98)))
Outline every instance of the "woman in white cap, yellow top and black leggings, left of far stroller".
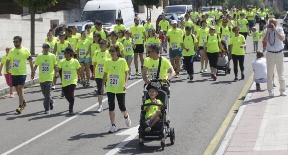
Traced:
POLYGON ((221 51, 223 50, 223 47, 221 44, 220 36, 218 34, 215 34, 214 26, 210 26, 209 32, 210 34, 206 36, 206 39, 204 41, 204 51, 209 59, 209 65, 211 69, 211 78, 213 78, 213 81, 216 81, 219 47, 221 48, 221 51))

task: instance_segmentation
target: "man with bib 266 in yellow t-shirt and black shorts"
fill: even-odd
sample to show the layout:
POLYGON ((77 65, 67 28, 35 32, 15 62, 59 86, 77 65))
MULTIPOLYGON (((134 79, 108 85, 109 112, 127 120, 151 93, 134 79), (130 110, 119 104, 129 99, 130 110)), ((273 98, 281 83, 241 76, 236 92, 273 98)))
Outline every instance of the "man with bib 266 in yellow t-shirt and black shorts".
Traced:
POLYGON ((143 63, 144 63, 144 58, 143 58, 144 41, 143 41, 143 38, 146 38, 146 33, 145 33, 144 26, 139 24, 139 18, 138 17, 134 18, 134 23, 135 23, 135 25, 131 26, 130 32, 132 34, 132 39, 135 40, 135 44, 136 44, 136 48, 134 49, 134 65, 136 68, 135 75, 139 75, 139 72, 138 72, 138 53, 139 53, 139 57, 140 57, 141 73, 142 73, 143 63))

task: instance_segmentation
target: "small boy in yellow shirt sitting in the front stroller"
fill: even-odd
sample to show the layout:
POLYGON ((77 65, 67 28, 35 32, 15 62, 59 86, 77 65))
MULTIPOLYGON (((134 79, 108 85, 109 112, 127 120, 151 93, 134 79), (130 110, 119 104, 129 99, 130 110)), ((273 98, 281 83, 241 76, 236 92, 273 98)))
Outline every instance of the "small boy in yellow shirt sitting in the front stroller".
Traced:
MULTIPOLYGON (((156 96, 158 95, 158 88, 152 85, 148 85, 147 88, 148 90, 148 95, 150 99, 147 99, 144 103, 149 104, 149 103, 158 103, 158 104, 163 104, 160 100, 156 99, 156 96)), ((145 131, 150 132, 151 128, 160 120, 161 116, 161 111, 162 107, 160 106, 144 106, 144 110, 146 112, 145 119, 145 124, 148 126, 145 131)))

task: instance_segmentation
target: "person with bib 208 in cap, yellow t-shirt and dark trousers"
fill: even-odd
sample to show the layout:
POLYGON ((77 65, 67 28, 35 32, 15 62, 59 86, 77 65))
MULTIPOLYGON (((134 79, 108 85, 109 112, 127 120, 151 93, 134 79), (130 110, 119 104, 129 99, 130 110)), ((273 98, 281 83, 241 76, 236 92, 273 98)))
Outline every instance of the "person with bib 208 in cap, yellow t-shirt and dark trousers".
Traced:
POLYGON ((49 114, 49 110, 54 108, 54 100, 51 98, 51 88, 54 76, 54 69, 57 69, 56 56, 49 53, 49 43, 44 43, 42 46, 43 53, 39 54, 35 60, 34 72, 39 66, 39 83, 44 95, 44 114, 49 114))

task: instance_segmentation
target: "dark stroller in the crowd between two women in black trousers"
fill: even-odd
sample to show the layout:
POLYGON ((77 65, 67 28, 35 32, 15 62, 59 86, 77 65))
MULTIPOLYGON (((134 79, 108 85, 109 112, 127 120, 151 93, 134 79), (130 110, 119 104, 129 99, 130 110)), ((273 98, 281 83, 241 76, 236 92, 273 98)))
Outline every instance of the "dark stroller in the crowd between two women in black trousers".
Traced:
POLYGON ((223 51, 221 52, 218 62, 217 62, 217 74, 218 75, 218 70, 224 70, 225 75, 227 75, 227 72, 230 74, 231 69, 230 69, 230 61, 228 59, 228 44, 226 40, 221 39, 223 51))

